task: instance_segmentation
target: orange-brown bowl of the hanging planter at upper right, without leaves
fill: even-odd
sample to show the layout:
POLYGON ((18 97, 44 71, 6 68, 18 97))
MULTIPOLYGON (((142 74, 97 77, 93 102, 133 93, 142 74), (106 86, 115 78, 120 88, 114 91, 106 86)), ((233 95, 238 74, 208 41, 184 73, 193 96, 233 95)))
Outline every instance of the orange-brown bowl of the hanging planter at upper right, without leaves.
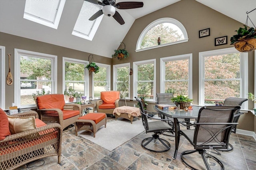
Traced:
POLYGON ((234 47, 240 52, 250 52, 256 49, 256 38, 243 39, 234 42, 234 47))

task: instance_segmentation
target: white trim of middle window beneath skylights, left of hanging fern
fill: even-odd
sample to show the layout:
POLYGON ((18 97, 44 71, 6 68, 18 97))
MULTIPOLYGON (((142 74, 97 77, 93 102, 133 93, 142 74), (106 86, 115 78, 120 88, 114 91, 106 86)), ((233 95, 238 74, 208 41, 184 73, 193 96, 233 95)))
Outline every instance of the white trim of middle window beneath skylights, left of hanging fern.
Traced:
MULTIPOLYGON (((74 58, 68 58, 68 57, 62 57, 62 94, 64 94, 64 91, 66 89, 65 86, 65 62, 70 63, 77 63, 77 64, 84 64, 84 67, 89 64, 89 61, 84 61, 80 59, 74 59, 74 58)), ((87 96, 86 100, 89 100, 89 70, 84 69, 84 95, 87 96)))

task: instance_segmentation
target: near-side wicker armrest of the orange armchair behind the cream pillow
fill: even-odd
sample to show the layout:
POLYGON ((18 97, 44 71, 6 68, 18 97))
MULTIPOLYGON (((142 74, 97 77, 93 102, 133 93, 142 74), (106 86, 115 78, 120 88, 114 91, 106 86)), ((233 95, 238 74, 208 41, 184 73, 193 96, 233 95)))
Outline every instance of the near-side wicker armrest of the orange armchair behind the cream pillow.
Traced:
POLYGON ((40 109, 41 120, 48 123, 59 123, 63 127, 63 112, 60 109, 40 109))

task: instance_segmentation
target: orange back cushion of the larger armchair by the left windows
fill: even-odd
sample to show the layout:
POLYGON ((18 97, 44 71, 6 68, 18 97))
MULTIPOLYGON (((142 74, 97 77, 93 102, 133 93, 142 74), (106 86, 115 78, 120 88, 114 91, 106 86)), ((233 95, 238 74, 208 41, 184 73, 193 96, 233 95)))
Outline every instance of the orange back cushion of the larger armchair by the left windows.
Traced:
POLYGON ((65 105, 63 94, 44 95, 36 98, 38 109, 60 109, 65 105))

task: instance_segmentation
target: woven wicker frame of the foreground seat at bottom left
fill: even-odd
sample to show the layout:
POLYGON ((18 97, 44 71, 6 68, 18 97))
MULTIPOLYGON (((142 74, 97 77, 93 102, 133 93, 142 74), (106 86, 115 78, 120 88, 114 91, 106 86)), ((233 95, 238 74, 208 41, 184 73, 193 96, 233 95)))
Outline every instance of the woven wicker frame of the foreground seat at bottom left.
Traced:
MULTIPOLYGON (((36 111, 27 111, 12 116, 38 118, 36 111)), ((28 162, 56 155, 60 163, 61 140, 62 127, 58 123, 6 136, 4 140, 0 140, 0 169, 13 170, 28 162)))

